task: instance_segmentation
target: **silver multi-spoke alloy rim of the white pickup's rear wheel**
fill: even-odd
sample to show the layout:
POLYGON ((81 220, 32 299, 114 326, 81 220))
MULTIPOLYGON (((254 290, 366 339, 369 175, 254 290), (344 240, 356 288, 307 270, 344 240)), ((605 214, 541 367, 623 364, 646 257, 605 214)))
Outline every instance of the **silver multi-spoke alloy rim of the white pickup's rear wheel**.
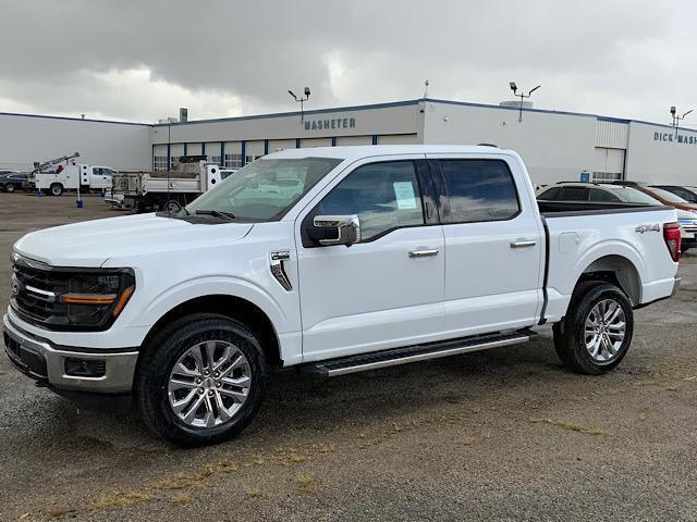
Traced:
POLYGON ((586 318, 586 350, 598 363, 608 363, 620 353, 625 334, 624 310, 614 299, 598 302, 586 318))

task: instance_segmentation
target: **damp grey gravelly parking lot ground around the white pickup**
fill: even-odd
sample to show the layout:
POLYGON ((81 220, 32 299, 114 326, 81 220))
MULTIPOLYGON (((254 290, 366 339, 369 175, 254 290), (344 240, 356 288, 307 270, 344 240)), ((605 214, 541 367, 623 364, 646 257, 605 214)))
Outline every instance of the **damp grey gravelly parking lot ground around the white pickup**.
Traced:
MULTIPOLYGON (((122 214, 97 197, 0 202, 3 307, 20 236, 122 214)), ((330 381, 289 371, 240 438, 195 450, 80 410, 1 356, 0 520, 697 520, 697 257, 681 273, 609 375, 566 371, 549 327, 330 381)))

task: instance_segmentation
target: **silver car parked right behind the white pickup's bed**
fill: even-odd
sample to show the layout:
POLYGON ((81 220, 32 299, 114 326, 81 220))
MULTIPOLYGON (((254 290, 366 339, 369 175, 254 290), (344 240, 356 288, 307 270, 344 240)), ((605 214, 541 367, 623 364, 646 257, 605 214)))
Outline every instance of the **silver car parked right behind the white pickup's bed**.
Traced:
MULTIPOLYGON (((682 226, 682 251, 687 251, 697 246, 697 212, 693 209, 685 208, 682 203, 670 202, 665 199, 664 191, 656 189, 651 192, 651 187, 644 185, 619 185, 612 183, 558 183, 550 187, 546 187, 537 195, 540 201, 597 201, 597 202, 626 202, 637 204, 667 204, 674 207, 677 213, 678 222, 682 226), (662 197, 661 197, 662 195, 662 197), (661 199, 659 199, 661 197, 661 199)), ((677 196, 670 196, 676 199, 677 196)))

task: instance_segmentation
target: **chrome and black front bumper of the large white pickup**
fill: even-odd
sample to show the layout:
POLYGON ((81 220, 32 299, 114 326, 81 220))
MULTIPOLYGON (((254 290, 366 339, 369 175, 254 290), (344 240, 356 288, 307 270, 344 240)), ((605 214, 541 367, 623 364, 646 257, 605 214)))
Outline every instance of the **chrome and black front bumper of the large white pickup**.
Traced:
POLYGON ((57 389, 99 394, 130 393, 133 386, 138 352, 127 350, 99 350, 53 346, 14 325, 3 316, 5 355, 14 366, 35 381, 57 389), (103 363, 103 375, 86 377, 69 375, 66 360, 98 361, 103 363))

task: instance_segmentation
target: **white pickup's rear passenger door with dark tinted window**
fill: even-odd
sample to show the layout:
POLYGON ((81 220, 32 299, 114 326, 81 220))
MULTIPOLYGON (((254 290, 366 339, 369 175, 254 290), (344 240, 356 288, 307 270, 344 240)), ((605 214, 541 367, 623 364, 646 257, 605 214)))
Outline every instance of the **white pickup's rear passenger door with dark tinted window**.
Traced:
POLYGON ((545 235, 524 169, 505 154, 428 158, 445 237, 445 335, 535 324, 545 235))

